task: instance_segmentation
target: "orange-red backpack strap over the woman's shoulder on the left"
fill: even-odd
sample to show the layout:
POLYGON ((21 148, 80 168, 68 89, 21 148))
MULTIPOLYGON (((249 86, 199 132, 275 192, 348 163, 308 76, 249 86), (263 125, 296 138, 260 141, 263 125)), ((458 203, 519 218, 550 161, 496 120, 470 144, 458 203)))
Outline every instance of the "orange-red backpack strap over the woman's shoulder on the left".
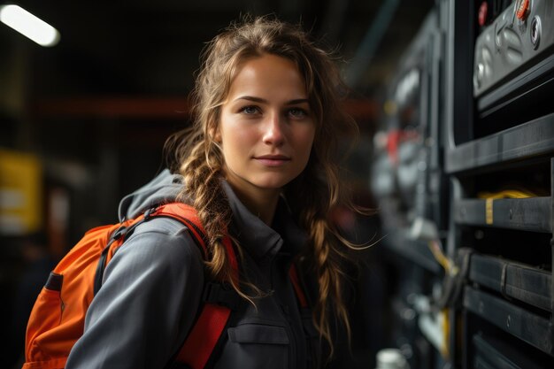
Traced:
MULTIPOLYGON (((172 217, 180 220, 189 227, 191 234, 193 234, 196 241, 200 243, 204 249, 204 258, 207 258, 207 246, 203 237, 204 227, 202 227, 194 208, 181 203, 165 204, 160 206, 152 215, 172 217)), ((235 281, 238 281, 238 263, 231 239, 225 237, 223 239, 223 244, 233 268, 233 278, 235 281)), ((192 369, 204 368, 212 356, 212 352, 219 341, 219 337, 223 334, 225 327, 227 327, 227 321, 231 315, 231 307, 218 304, 217 301, 212 302, 212 298, 207 296, 210 295, 210 292, 212 292, 210 289, 214 286, 220 287, 220 284, 212 282, 206 283, 207 288, 204 288, 202 311, 200 311, 195 325, 191 328, 187 339, 175 358, 176 361, 185 363, 192 369)), ((217 300, 217 298, 213 300, 217 300)))

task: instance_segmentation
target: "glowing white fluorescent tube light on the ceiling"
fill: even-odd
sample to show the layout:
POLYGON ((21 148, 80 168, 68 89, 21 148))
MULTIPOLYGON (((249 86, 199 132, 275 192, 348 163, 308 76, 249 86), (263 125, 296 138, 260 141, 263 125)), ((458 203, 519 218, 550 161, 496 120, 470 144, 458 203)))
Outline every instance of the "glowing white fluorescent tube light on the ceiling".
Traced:
POLYGON ((0 21, 41 46, 54 46, 59 32, 18 5, 0 6, 0 21))

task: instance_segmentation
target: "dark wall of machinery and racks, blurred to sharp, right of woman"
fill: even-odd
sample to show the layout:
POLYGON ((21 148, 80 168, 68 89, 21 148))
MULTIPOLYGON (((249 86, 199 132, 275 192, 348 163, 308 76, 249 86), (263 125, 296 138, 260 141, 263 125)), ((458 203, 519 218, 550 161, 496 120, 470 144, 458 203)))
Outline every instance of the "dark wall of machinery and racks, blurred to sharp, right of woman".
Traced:
POLYGON ((371 188, 412 367, 554 366, 553 20, 437 2, 389 85, 371 188))

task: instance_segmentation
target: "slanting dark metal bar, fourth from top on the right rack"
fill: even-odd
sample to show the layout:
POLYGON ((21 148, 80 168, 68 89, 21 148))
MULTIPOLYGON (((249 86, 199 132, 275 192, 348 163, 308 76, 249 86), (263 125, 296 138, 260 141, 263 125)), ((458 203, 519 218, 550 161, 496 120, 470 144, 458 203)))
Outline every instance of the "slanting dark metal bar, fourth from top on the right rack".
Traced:
POLYGON ((554 356, 552 322, 501 298, 466 287, 464 307, 491 324, 554 356))

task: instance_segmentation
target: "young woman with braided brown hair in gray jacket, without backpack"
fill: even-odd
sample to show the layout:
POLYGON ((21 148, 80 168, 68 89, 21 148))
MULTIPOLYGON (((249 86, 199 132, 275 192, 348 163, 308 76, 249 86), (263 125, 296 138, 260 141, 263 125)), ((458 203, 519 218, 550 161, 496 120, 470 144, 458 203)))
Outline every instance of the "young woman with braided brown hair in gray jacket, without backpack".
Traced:
MULTIPOLYGON (((334 59, 299 27, 248 19, 215 37, 196 80, 191 129, 168 141, 173 171, 124 198, 120 216, 181 201, 196 208, 204 260, 174 219, 151 219, 119 248, 88 309, 67 368, 163 368, 180 350, 204 284, 227 281, 235 309, 210 365, 311 368, 332 354, 337 319, 350 331, 342 262, 351 245, 330 222, 351 204, 335 164, 342 111, 334 59), (240 277, 223 245, 237 250, 240 277), (303 275, 311 313, 289 268, 303 275)), ((357 132, 357 131, 356 131, 357 132)))

